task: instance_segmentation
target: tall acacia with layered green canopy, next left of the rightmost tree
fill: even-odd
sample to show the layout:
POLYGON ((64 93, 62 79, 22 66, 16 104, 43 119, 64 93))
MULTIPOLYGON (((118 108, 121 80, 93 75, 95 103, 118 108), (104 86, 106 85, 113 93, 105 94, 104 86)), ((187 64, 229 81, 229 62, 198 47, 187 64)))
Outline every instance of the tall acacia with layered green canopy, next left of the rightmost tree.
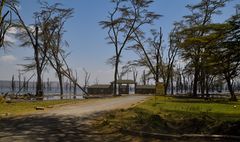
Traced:
POLYGON ((204 93, 205 78, 207 70, 204 68, 204 58, 206 43, 199 38, 208 34, 204 26, 211 24, 213 15, 220 14, 219 8, 225 6, 229 0, 202 0, 195 5, 187 5, 191 15, 184 16, 181 22, 182 30, 179 32, 181 37, 181 55, 184 59, 192 63, 194 71, 192 95, 197 96, 198 83, 201 84, 201 92, 204 93))

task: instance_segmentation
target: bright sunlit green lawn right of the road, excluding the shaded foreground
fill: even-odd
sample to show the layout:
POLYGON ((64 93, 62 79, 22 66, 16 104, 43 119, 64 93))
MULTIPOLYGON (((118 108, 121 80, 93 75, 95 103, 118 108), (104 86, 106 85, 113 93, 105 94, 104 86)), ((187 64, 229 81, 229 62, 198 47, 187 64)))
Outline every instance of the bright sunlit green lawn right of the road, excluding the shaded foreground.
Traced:
POLYGON ((138 105, 137 108, 146 109, 154 114, 172 115, 172 119, 208 115, 223 121, 240 120, 240 102, 229 102, 224 99, 216 99, 209 102, 203 99, 158 96, 156 101, 154 98, 151 98, 138 105))

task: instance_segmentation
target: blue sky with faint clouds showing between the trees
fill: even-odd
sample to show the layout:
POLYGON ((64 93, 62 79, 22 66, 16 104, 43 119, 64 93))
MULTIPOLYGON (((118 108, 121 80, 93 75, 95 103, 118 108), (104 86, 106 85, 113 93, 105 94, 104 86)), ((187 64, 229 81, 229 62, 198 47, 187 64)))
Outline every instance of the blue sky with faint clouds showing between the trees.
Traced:
MULTIPOLYGON (((40 9, 39 0, 20 0, 20 13, 27 24, 34 23, 33 13, 40 9)), ((65 24, 66 33, 64 38, 69 43, 65 48, 70 52, 67 61, 69 66, 78 72, 79 83, 84 81, 83 68, 91 73, 90 84, 98 80, 98 83, 109 83, 113 80, 113 68, 106 64, 108 58, 114 55, 114 47, 109 45, 107 31, 103 30, 99 22, 106 20, 108 12, 113 5, 110 0, 47 0, 49 3, 62 3, 63 7, 73 8, 74 14, 65 24)), ((167 36, 173 28, 173 23, 182 19, 182 16, 189 14, 185 8, 187 4, 196 4, 199 0, 155 0, 150 9, 163 15, 151 28, 163 29, 164 46, 167 46, 167 36)), ((216 16, 214 20, 221 22, 234 14, 234 6, 240 0, 233 0, 222 9, 223 14, 216 16)), ((11 31, 10 31, 11 32, 11 31)), ((12 47, 0 49, 0 80, 11 80, 12 75, 17 76, 21 64, 28 63, 24 57, 33 55, 31 47, 19 47, 16 39, 8 37, 8 40, 15 44, 12 47)), ((136 59, 132 51, 124 51, 123 60, 136 59)), ((22 76, 30 77, 32 72, 22 72, 22 76)), ((50 78, 56 81, 55 73, 48 69, 44 72, 43 79, 50 78)), ((140 76, 140 75, 139 75, 140 76)), ((131 75, 127 76, 131 79, 131 75)), ((127 79, 125 77, 125 79, 127 79)))

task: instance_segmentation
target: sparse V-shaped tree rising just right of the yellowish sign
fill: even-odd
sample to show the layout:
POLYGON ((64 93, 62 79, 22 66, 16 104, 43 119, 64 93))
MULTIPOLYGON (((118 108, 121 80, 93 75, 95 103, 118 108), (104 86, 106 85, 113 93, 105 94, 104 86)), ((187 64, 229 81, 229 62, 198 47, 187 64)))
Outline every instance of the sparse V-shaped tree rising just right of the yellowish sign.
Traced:
POLYGON ((162 29, 159 32, 151 30, 152 37, 146 38, 145 33, 135 31, 134 41, 135 45, 131 46, 140 59, 135 60, 136 64, 145 66, 149 69, 150 73, 154 76, 155 83, 159 82, 162 78, 164 82, 165 95, 169 87, 171 76, 173 76, 173 64, 177 55, 177 40, 176 30, 177 24, 169 36, 169 48, 162 46, 162 29))

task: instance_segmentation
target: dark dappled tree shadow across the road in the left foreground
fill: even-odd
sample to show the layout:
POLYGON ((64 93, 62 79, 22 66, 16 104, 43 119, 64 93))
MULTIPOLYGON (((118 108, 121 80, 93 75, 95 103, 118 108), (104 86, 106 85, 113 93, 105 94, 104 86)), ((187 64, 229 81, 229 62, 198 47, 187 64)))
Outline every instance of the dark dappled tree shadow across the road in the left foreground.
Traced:
POLYGON ((0 141, 128 141, 118 133, 94 131, 84 119, 42 115, 4 118, 0 120, 0 141))

